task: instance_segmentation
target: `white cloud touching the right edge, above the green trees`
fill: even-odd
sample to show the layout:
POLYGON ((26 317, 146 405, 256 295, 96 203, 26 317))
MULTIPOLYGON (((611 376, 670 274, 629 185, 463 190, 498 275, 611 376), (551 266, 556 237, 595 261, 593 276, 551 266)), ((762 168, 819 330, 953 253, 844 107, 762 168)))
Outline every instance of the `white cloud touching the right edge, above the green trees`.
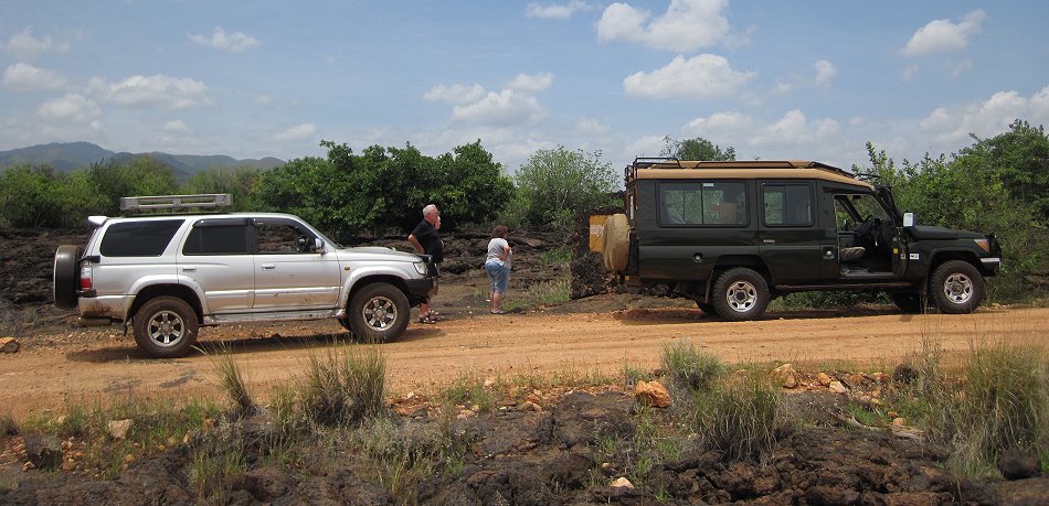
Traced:
POLYGON ((1030 97, 1017 91, 998 91, 983 101, 953 107, 939 107, 919 122, 946 150, 969 141, 969 133, 993 137, 1008 130, 1016 119, 1031 123, 1049 123, 1049 86, 1030 97))

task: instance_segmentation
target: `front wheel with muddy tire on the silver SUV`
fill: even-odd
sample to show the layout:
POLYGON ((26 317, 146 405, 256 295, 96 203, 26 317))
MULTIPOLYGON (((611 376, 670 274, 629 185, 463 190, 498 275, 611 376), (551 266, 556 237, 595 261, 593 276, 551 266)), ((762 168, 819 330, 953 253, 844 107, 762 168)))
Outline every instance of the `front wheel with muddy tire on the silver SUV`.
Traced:
POLYGON ((399 337, 411 315, 407 297, 390 283, 371 283, 354 293, 347 306, 350 332, 365 343, 399 337))

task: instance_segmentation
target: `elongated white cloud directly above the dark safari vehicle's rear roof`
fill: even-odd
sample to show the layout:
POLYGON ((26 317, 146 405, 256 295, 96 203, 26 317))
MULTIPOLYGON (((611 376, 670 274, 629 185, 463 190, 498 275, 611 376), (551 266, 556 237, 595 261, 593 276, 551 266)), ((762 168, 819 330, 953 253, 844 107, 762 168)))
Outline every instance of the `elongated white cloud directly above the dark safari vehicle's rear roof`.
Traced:
POLYGON ((663 68, 627 76, 623 88, 634 97, 706 99, 735 94, 756 75, 735 72, 728 60, 714 54, 688 60, 678 55, 663 68))

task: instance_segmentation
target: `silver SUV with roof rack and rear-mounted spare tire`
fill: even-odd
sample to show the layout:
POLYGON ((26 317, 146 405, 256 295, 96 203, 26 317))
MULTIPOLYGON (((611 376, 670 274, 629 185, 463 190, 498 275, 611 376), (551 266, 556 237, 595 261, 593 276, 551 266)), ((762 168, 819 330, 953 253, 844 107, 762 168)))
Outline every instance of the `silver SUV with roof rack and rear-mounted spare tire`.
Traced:
MULTIPOLYGON (((127 211, 218 207, 229 195, 128 197, 127 211)), ((426 256, 343 248, 276 213, 92 216, 86 248, 60 246, 54 299, 83 325, 124 323, 153 357, 182 356, 201 325, 336 319, 369 342, 404 332, 436 293, 426 256)))

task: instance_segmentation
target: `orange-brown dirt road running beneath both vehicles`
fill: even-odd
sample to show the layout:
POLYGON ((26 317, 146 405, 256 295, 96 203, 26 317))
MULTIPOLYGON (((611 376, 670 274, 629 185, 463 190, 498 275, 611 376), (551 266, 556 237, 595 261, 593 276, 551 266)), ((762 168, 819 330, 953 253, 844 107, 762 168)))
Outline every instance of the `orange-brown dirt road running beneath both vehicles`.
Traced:
MULTIPOLYGON (((784 360, 834 368, 869 365, 891 369, 920 348, 923 336, 946 352, 966 351, 976 338, 1045 340, 1049 309, 981 310, 971 315, 856 317, 775 315, 757 322, 721 322, 693 309, 635 309, 606 313, 459 315, 437 325, 412 324, 382 345, 391 395, 427 390, 468 375, 495 377, 558 370, 614 374, 628 364, 658 366, 675 340, 729 363, 784 360)), ((223 343, 236 355, 256 391, 305 370, 346 334, 336 323, 289 323, 202 330, 203 343, 223 343), (279 336, 277 336, 279 334, 279 336)), ((23 349, 0 356, 0 412, 15 417, 121 396, 184 399, 214 391, 212 359, 144 358, 118 327, 73 330, 23 340, 23 349)))

